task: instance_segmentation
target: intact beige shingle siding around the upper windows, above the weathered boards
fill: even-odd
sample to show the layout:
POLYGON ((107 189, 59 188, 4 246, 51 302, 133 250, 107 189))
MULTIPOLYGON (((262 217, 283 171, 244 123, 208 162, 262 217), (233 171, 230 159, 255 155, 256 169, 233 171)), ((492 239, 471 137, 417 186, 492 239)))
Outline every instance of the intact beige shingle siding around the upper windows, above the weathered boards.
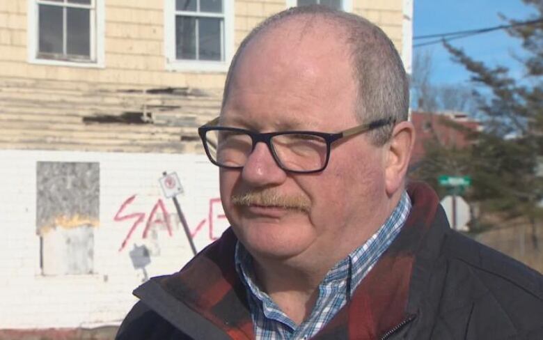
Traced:
MULTIPOLYGON (((0 1, 0 75, 140 87, 221 88, 224 72, 165 70, 163 4, 106 0, 105 67, 93 69, 28 63, 27 1, 0 1)), ((235 46, 256 24, 285 8, 284 0, 235 1, 235 46)), ((401 0, 353 0, 353 11, 381 26, 395 45, 401 46, 401 0)))

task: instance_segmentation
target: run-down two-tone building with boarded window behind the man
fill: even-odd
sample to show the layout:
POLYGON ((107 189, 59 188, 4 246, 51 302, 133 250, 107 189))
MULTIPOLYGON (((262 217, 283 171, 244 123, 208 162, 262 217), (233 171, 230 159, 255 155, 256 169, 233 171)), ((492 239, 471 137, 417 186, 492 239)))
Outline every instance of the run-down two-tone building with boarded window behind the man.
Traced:
MULTIPOLYGON (((134 287, 179 270, 192 252, 164 171, 196 248, 219 237, 196 127, 253 26, 310 2, 0 1, 0 330, 118 325, 134 287)), ((327 2, 381 26, 410 69, 412 0, 327 2)))

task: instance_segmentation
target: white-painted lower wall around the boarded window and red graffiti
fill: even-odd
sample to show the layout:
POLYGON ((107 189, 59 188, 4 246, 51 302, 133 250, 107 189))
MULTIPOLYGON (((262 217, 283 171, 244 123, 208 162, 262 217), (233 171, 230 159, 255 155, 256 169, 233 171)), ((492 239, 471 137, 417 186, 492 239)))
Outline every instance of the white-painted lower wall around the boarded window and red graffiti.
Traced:
MULTIPOLYGON (((143 279, 129 257, 134 245, 159 251, 145 269, 149 277, 180 270, 192 257, 171 199, 162 196, 158 178, 176 171, 184 187, 178 196, 189 227, 200 226, 194 242, 202 249, 228 226, 219 199, 218 170, 204 155, 86 153, 0 150, 0 329, 88 327, 118 324, 136 298, 143 279), (100 163, 100 226, 94 233, 93 275, 43 276, 36 234, 36 162, 100 163), (145 214, 123 250, 120 245, 134 219, 115 221, 120 206, 136 195, 120 215, 145 214), (157 241, 142 238, 159 199, 173 217, 169 236, 157 226, 157 241), (214 212, 210 221, 210 202, 214 212)), ((160 210, 159 210, 160 211, 160 210)))

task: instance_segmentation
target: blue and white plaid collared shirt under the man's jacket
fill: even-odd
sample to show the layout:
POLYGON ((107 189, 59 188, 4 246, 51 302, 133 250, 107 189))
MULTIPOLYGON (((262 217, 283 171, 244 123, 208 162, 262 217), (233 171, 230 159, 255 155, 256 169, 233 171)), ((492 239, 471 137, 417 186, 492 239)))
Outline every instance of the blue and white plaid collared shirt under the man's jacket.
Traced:
POLYGON ((297 325, 272 299, 256 286, 253 277, 253 258, 243 245, 237 242, 235 250, 236 270, 249 288, 249 308, 253 318, 256 339, 309 339, 329 323, 347 304, 356 287, 400 233, 411 210, 411 200, 403 192, 398 206, 386 222, 361 247, 354 249, 342 261, 329 270, 319 285, 319 296, 310 316, 297 325))

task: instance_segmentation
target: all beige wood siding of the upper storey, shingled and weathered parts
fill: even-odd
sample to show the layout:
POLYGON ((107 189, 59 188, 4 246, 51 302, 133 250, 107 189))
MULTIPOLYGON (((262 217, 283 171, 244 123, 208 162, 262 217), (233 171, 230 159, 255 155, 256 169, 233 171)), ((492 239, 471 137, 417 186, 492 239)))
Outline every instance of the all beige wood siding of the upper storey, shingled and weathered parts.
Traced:
MULTIPOLYGON (((29 2, 0 1, 0 148, 202 151, 196 127, 219 113, 226 73, 166 70, 164 1, 104 1, 103 68, 30 63, 29 2), (147 121, 123 121, 127 114, 147 121), (120 121, 97 123, 104 116, 120 121)), ((285 0, 233 3, 235 47, 286 8, 285 0)), ((401 47, 402 0, 352 7, 401 47)))

